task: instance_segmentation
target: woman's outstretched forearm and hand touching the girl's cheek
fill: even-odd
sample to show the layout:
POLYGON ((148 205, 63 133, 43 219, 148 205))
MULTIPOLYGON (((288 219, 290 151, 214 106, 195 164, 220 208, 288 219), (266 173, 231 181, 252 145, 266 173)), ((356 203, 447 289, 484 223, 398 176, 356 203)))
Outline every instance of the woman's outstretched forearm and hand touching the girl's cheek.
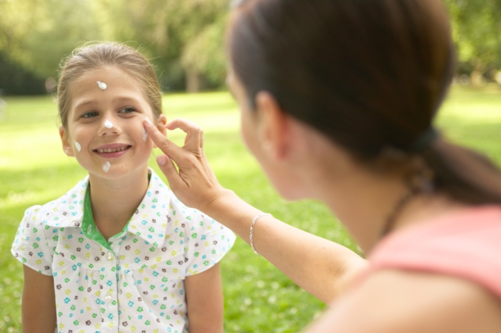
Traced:
MULTIPOLYGON (((220 186, 203 152, 202 130, 187 120, 169 122, 167 129, 179 128, 187 133, 181 148, 167 140, 155 126, 147 122, 145 125, 153 142, 169 156, 160 155, 157 160, 176 196, 249 243, 252 219, 262 212, 220 186)), ((262 256, 291 280, 326 303, 346 289, 353 276, 366 267, 366 261, 350 249, 271 216, 263 216, 256 222, 253 243, 262 256)))

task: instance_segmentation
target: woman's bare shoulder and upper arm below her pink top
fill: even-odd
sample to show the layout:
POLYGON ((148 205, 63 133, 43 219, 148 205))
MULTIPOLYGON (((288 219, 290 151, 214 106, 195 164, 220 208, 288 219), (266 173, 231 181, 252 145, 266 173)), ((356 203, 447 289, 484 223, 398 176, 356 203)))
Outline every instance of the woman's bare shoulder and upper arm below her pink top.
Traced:
POLYGON ((501 332, 501 302, 462 278, 382 269, 305 332, 501 332))

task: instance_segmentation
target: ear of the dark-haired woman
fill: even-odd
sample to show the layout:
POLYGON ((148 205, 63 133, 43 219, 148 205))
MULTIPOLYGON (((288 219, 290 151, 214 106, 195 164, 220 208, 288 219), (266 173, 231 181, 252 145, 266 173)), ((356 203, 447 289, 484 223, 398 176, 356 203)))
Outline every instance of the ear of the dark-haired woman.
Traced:
POLYGON ((290 115, 287 115, 275 97, 267 91, 256 95, 258 113, 258 137, 265 151, 272 154, 274 160, 286 157, 290 144, 290 115))

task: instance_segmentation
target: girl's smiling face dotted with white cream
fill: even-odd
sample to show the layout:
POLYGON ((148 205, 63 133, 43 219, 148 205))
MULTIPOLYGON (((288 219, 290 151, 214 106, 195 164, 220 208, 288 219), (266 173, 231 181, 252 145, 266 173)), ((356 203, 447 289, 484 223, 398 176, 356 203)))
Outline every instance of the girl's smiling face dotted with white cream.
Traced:
MULTIPOLYGON (((68 127, 59 128, 67 155, 102 178, 148 168, 153 142, 144 137, 143 120, 155 123, 155 116, 135 79, 114 66, 89 70, 75 81, 71 96, 68 127)), ((166 117, 160 115, 156 122, 165 133, 166 117)))

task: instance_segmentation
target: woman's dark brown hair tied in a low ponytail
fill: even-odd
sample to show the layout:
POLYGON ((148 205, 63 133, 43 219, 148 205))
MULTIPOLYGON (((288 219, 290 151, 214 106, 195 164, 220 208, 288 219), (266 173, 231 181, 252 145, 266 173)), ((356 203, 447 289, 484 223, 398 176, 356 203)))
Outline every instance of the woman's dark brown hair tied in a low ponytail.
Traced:
POLYGON ((359 160, 388 149, 421 155, 435 189, 471 204, 501 203, 501 173, 437 137, 419 151, 453 75, 439 0, 238 1, 231 65, 252 108, 259 91, 359 160))

